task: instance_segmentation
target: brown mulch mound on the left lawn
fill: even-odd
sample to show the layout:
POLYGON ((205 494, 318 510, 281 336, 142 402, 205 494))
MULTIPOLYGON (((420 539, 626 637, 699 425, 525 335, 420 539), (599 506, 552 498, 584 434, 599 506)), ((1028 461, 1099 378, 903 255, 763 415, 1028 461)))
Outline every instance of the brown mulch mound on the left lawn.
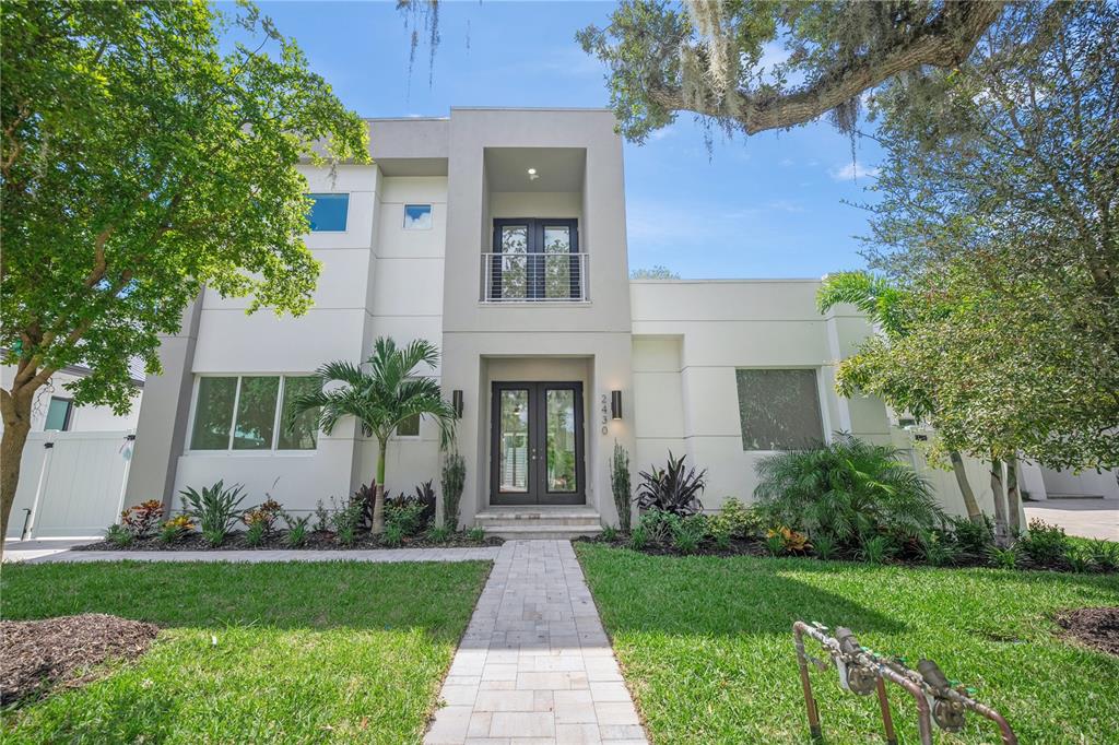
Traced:
POLYGON ((43 621, 0 621, 0 704, 77 686, 109 659, 143 654, 158 626, 103 613, 43 621))

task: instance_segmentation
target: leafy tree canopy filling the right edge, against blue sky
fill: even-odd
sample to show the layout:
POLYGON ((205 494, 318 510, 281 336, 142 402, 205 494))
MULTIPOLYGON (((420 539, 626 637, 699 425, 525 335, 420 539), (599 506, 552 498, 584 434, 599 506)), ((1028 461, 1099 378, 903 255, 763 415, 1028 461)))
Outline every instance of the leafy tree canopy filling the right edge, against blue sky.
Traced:
POLYGON ((1111 466, 1119 10, 1076 3, 1056 28, 1047 10, 1013 6, 959 68, 876 96, 886 158, 867 256, 913 293, 913 323, 845 372, 934 392, 953 449, 1111 466))

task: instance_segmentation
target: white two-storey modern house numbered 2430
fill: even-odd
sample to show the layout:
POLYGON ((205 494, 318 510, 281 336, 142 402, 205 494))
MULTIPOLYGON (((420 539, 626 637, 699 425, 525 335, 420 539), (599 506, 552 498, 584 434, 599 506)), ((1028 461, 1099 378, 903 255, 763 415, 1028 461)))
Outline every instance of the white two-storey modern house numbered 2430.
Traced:
MULTIPOLYGON (((368 124, 375 164, 302 169, 316 199, 307 243, 322 263, 314 307, 246 315, 246 300, 206 291, 163 340, 128 502, 224 479, 310 510, 367 483, 376 442, 352 422, 329 435, 282 422, 316 368, 364 360, 380 336, 442 350, 434 375, 462 400, 466 525, 499 506, 552 504, 614 522, 615 442, 634 473, 669 451, 706 468, 709 509, 749 499, 754 464, 775 450, 834 431, 911 443, 881 402, 836 395, 835 365, 872 329, 849 307, 820 315, 817 280, 629 280, 609 111, 453 109, 368 124)), ((388 488, 438 482, 439 465, 436 427, 421 422, 389 446, 388 488)))

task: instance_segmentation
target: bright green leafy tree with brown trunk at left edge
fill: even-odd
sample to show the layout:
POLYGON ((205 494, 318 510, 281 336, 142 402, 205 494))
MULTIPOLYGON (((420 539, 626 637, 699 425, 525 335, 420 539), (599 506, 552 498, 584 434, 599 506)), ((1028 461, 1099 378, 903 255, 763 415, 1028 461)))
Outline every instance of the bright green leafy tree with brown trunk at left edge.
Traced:
POLYGON ((12 0, 0 59, 0 390, 4 518, 31 398, 93 374, 79 403, 129 405, 203 285, 301 313, 319 266, 294 166, 367 161, 367 133, 257 10, 199 2, 12 0), (223 53, 235 31, 251 46, 223 53))

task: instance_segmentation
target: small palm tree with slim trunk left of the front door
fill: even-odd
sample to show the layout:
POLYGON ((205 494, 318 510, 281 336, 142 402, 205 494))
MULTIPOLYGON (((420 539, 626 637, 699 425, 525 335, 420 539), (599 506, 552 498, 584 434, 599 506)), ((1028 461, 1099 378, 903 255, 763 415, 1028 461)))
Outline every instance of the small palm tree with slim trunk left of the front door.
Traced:
POLYGON ((304 412, 317 411, 319 428, 330 434, 339 419, 352 416, 365 436, 377 437, 375 534, 385 529, 385 451, 396 427, 414 416, 430 416, 439 424, 443 446, 453 438, 454 409, 443 400, 433 378, 415 374, 420 365, 434 369, 438 364, 439 349, 430 341, 417 339, 398 349, 392 338, 379 337, 366 361, 368 372, 345 360, 327 362, 317 371, 319 390, 293 402, 292 421, 304 412))

